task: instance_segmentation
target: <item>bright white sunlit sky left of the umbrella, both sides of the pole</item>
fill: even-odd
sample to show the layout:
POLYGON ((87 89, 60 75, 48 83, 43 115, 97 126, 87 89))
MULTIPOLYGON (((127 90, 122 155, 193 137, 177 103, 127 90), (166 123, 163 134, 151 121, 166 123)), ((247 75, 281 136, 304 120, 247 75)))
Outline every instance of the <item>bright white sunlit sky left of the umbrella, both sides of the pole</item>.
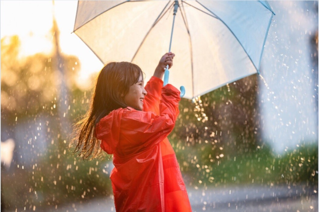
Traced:
POLYGON ((92 83, 89 81, 91 74, 99 71, 103 64, 72 33, 77 4, 77 1, 54 1, 54 4, 53 1, 1 1, 1 38, 18 35, 21 40, 20 56, 50 53, 54 11, 60 30, 61 50, 79 58, 81 69, 77 84, 86 89, 92 83))

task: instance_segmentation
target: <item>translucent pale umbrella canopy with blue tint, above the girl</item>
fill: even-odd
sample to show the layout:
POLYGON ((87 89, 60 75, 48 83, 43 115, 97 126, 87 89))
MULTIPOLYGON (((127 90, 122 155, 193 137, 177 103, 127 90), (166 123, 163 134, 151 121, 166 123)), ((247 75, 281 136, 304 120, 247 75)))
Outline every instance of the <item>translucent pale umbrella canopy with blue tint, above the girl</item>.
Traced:
MULTIPOLYGON (((192 99, 259 73, 274 15, 267 1, 178 1, 169 83, 192 99)), ((152 77, 168 51, 174 1, 79 1, 74 33, 103 63, 131 61, 152 77)))

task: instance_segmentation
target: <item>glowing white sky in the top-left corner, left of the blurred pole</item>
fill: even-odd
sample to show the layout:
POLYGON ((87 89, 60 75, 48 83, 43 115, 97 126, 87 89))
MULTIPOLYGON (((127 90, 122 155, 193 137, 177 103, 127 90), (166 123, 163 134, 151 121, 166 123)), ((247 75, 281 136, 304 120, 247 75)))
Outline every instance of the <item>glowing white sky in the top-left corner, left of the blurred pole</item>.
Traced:
POLYGON ((51 51, 51 23, 52 2, 1 1, 1 38, 18 35, 23 56, 51 51))

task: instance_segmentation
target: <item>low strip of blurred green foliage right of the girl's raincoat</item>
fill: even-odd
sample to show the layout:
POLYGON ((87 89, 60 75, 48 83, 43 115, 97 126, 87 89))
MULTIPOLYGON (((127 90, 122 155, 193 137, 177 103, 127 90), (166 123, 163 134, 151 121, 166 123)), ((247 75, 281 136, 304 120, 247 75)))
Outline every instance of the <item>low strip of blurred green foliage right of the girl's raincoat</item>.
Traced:
MULTIPOLYGON (((179 148, 175 151, 183 173, 193 186, 225 185, 318 185, 318 145, 300 145, 276 155, 264 144, 245 154, 211 151, 201 148, 179 148), (222 156, 222 157, 218 157, 222 156), (217 158, 218 157, 218 158, 217 158)), ((212 146, 212 145, 211 145, 212 146)))

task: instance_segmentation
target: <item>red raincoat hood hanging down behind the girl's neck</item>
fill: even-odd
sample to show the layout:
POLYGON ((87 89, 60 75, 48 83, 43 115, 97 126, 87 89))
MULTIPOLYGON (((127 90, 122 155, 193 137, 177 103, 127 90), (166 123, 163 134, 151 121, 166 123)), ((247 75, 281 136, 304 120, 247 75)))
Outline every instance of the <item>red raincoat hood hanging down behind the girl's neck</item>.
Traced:
POLYGON ((108 154, 113 154, 120 137, 120 124, 123 108, 111 111, 103 117, 96 125, 96 138, 101 142, 102 150, 108 154))

